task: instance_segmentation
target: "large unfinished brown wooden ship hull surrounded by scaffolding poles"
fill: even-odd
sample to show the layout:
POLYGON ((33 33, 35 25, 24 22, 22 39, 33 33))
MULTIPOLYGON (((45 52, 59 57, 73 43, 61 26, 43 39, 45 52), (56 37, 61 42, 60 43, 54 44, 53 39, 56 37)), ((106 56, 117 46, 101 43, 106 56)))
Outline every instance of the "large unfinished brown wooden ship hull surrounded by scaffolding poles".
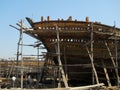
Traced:
POLYGON ((120 29, 85 21, 58 19, 34 22, 19 31, 42 42, 47 50, 38 82, 46 87, 120 84, 120 29))

